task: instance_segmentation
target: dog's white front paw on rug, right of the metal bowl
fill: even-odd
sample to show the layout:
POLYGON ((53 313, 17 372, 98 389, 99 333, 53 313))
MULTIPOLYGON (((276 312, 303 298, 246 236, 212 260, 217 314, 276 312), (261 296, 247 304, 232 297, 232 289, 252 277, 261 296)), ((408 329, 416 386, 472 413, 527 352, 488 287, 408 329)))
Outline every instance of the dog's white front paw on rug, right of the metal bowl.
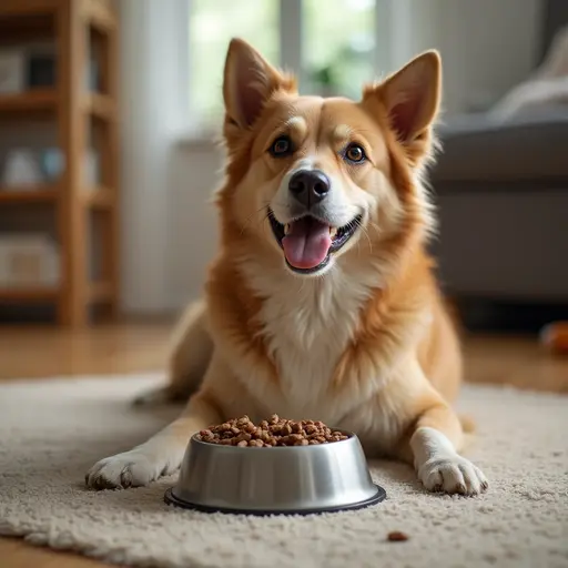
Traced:
POLYGON ((430 457, 419 467, 418 478, 429 491, 471 496, 488 487, 483 471, 458 454, 430 457))

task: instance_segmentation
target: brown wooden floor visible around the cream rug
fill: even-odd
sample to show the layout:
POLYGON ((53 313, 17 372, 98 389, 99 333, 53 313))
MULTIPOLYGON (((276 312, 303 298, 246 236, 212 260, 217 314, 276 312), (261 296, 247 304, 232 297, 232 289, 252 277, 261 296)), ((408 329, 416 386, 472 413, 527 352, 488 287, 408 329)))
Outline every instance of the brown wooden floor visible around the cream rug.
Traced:
MULTIPOLYGON (((170 322, 98 326, 81 332, 0 327, 0 379, 113 375, 161 369, 170 322)), ((535 337, 467 337, 467 379, 568 393, 568 357, 552 356, 535 337)), ((101 562, 0 538, 1 568, 88 568, 101 562)))

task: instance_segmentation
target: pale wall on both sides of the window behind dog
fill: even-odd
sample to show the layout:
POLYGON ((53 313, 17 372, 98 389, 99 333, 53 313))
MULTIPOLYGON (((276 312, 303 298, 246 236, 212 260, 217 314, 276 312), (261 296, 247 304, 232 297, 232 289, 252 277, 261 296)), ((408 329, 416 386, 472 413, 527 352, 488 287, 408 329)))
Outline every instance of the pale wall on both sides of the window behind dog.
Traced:
MULTIPOLYGON (((211 193, 221 153, 207 141, 176 142, 181 3, 122 0, 124 94, 123 305, 131 313, 176 311, 197 296, 215 250, 211 193), (176 43, 178 41, 178 43, 176 43)), ((392 67, 438 48, 446 116, 494 100, 532 69, 540 0, 379 0, 392 67)), ((183 10, 182 10, 183 12, 183 10)), ((389 71, 390 69, 387 69, 389 71)))

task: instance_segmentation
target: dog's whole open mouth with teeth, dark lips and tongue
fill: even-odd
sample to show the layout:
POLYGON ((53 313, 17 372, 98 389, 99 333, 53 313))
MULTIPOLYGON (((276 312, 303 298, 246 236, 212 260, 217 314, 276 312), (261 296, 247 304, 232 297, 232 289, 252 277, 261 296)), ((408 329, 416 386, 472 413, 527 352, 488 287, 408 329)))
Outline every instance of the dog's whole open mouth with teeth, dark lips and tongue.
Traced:
POLYGON ((332 253, 347 243, 357 231, 362 215, 341 227, 334 227, 311 215, 283 225, 270 210, 268 219, 288 266, 295 272, 310 274, 326 266, 332 253))

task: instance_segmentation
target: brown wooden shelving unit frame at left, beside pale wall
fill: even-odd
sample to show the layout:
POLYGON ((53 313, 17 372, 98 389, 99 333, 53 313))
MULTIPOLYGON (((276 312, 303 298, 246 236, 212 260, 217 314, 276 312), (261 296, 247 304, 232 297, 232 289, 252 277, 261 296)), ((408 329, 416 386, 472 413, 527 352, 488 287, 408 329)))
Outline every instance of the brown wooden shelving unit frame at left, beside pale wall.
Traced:
POLYGON ((61 325, 89 323, 91 306, 104 305, 110 315, 118 307, 119 170, 118 170, 118 16, 111 0, 1 0, 0 43, 51 38, 57 45, 57 84, 18 94, 0 94, 2 120, 52 116, 64 160, 61 179, 53 185, 12 191, 0 187, 0 212, 7 207, 53 209, 61 255, 57 288, 4 290, 2 303, 55 303, 61 325), (93 38, 95 45, 93 45, 93 38), (89 53, 100 71, 101 89, 88 92, 89 53), (84 180, 89 129, 98 130, 101 186, 84 180), (89 220, 102 227, 99 250, 102 274, 89 277, 89 220))

